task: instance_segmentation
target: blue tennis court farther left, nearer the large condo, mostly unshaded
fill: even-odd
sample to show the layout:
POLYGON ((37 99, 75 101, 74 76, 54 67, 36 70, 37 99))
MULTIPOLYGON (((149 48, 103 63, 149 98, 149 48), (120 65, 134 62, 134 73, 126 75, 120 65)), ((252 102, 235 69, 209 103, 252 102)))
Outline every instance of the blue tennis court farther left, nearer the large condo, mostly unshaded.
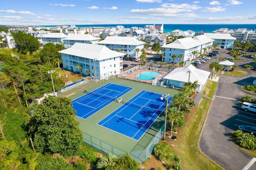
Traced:
POLYGON ((108 83, 72 101, 73 109, 77 112, 76 116, 86 119, 131 89, 131 87, 108 83))

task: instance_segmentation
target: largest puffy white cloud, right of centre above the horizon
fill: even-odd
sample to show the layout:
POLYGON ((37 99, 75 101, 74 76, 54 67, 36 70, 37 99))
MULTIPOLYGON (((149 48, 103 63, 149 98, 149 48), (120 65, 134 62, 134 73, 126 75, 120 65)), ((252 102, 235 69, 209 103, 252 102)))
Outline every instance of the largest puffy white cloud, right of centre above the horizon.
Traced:
POLYGON ((175 14, 177 12, 187 12, 186 9, 171 9, 171 8, 151 8, 147 10, 130 10, 130 13, 144 14, 158 17, 197 17, 196 14, 175 14))

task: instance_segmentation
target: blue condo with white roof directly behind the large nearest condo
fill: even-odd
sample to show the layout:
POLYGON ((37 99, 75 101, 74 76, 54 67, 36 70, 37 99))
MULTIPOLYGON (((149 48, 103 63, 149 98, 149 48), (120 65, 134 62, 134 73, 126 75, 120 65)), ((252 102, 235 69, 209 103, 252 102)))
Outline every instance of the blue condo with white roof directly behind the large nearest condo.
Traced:
POLYGON ((99 40, 100 38, 96 38, 90 34, 71 34, 67 38, 64 38, 63 42, 64 42, 64 47, 70 48, 76 42, 97 44, 99 40))

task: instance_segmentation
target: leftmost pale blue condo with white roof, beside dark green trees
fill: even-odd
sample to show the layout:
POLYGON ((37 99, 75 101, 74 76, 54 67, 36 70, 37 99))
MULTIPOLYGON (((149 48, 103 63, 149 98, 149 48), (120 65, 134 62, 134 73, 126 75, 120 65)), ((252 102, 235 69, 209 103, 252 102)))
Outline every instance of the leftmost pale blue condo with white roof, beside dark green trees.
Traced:
POLYGON ((45 36, 42 36, 42 42, 43 42, 43 45, 45 45, 48 42, 52 42, 54 43, 54 45, 56 44, 63 45, 63 39, 67 37, 68 36, 63 33, 49 33, 49 34, 46 34, 45 36))

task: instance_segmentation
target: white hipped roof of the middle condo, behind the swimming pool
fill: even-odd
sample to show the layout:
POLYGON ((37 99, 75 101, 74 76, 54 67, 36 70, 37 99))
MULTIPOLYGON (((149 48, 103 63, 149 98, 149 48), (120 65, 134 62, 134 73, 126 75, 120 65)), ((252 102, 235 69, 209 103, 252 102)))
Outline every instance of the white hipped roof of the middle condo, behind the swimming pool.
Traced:
POLYGON ((99 44, 119 44, 119 45, 142 45, 145 42, 137 40, 136 37, 107 36, 105 40, 102 40, 98 43, 99 44))

